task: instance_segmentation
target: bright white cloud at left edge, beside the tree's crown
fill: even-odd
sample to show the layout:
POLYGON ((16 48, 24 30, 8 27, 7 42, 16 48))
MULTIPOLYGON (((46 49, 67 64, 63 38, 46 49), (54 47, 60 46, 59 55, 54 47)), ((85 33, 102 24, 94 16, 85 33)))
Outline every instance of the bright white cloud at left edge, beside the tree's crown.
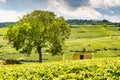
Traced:
POLYGON ((16 22, 24 13, 18 13, 12 10, 0 10, 0 22, 16 22))

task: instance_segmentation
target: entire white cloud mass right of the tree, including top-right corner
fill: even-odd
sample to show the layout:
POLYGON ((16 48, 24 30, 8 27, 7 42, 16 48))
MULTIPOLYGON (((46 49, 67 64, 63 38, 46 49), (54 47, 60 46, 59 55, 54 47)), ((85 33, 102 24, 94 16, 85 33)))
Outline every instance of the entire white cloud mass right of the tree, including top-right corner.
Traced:
POLYGON ((65 3, 65 0, 50 0, 48 5, 48 10, 69 19, 107 19, 112 22, 120 22, 118 15, 115 15, 114 11, 109 11, 113 15, 105 15, 95 9, 120 6, 120 0, 90 0, 90 5, 77 7, 74 10, 65 3))

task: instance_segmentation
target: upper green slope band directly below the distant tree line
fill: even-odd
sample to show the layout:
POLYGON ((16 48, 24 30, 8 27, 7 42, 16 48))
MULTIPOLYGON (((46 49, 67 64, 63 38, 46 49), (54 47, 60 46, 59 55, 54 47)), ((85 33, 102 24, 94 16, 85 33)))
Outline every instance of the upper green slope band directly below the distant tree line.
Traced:
POLYGON ((71 28, 71 39, 95 38, 104 36, 119 36, 119 27, 102 27, 102 25, 83 25, 73 26, 71 28))

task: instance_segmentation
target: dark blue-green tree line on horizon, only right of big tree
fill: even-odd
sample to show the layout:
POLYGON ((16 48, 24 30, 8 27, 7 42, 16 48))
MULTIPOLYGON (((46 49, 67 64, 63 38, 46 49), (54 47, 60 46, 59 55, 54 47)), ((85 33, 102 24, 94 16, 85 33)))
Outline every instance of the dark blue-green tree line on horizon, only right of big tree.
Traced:
POLYGON ((103 20, 79 20, 79 19, 69 19, 67 20, 67 23, 70 24, 70 25, 74 25, 74 24, 77 24, 77 25, 84 25, 84 24, 91 24, 91 25, 96 25, 96 24, 109 24, 109 25, 112 25, 114 23, 106 20, 106 19, 103 19, 103 20))

